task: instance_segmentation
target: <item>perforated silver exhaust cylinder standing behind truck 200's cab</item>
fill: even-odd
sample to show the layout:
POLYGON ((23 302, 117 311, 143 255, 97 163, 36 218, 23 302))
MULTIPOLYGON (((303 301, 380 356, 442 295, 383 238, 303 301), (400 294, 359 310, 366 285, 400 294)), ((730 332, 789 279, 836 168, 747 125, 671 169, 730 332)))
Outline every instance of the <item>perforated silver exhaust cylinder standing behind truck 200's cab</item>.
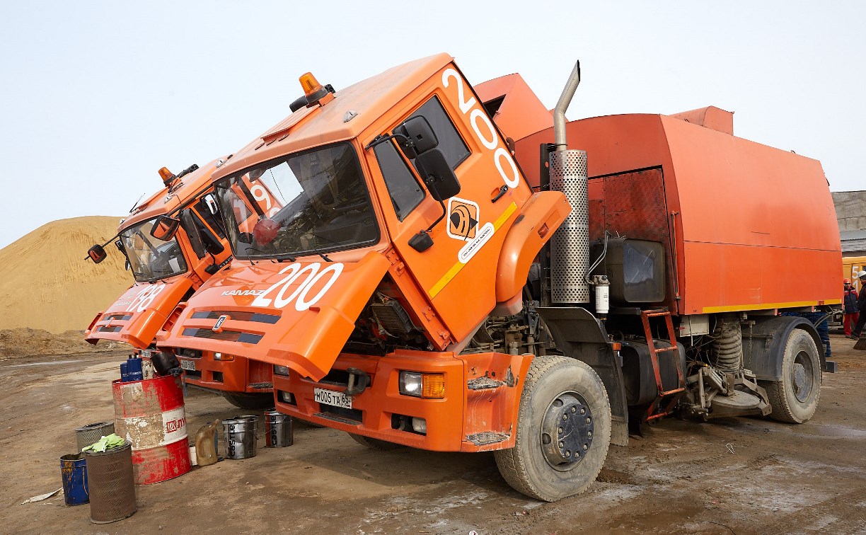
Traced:
POLYGON ((554 303, 589 303, 586 283, 589 268, 589 212, 586 152, 550 153, 550 189, 562 191, 572 212, 551 238, 551 300, 554 303))

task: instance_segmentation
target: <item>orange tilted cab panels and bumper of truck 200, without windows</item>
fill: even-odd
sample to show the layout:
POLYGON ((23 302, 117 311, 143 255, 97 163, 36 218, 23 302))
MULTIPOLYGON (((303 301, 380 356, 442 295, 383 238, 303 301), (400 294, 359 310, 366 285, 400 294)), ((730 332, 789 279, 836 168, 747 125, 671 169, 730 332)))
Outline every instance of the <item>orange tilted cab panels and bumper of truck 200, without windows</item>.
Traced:
POLYGON ((456 351, 494 310, 520 309, 530 265, 570 208, 559 192, 533 193, 481 104, 452 58, 435 55, 346 87, 323 106, 300 109, 237 151, 214 174, 215 182, 311 147, 351 144, 370 192, 375 219, 369 224, 378 240, 328 251, 330 261, 319 255, 280 262, 236 256, 178 306, 178 319, 157 335, 159 349, 219 351, 288 367, 288 376, 275 373, 274 390, 290 393, 295 404, 278 400, 277 408, 352 433, 451 451, 513 445, 532 356, 456 351), (445 205, 452 212, 462 209, 460 203, 471 207, 477 233, 471 239, 455 236, 446 218, 430 229, 434 245, 417 251, 409 246, 410 238, 436 222, 443 207, 427 193, 401 220, 378 161, 365 146, 434 99, 469 151, 455 169, 462 190, 445 205), (346 120, 349 111, 356 114, 346 120), (432 351, 397 348, 359 355, 344 350, 374 295, 396 300, 432 351), (313 403, 313 389, 339 390, 328 375, 345 375, 349 367, 372 376, 370 388, 355 397, 354 420, 313 403), (399 370, 444 373, 445 398, 401 395, 399 370), (467 387, 485 375, 488 379, 478 383, 482 387, 467 387), (393 427, 395 415, 427 418, 428 434, 393 427), (486 442, 489 436, 497 438, 486 442))

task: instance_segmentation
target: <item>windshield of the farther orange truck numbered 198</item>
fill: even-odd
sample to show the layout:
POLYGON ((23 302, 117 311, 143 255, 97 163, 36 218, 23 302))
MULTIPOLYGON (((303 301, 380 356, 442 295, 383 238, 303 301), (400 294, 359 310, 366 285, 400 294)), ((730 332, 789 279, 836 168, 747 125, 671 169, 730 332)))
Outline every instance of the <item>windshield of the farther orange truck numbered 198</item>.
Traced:
POLYGON ((163 242, 151 235, 155 219, 130 227, 120 233, 132 274, 139 282, 165 279, 186 271, 184 253, 178 242, 163 242))

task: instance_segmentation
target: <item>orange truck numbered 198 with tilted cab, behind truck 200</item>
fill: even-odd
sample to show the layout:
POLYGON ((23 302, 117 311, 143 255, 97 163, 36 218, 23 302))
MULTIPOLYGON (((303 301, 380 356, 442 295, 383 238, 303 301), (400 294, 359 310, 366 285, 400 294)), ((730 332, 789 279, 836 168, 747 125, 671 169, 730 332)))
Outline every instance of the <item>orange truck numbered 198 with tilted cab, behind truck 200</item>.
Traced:
MULTIPOLYGON (((114 236, 135 283, 106 311, 96 315, 85 332, 88 342, 119 340, 150 358, 154 336, 178 303, 229 263, 231 250, 210 181, 227 159, 215 160, 203 168, 192 165, 178 175, 165 168, 160 170, 165 187, 137 203, 114 236), (167 234, 161 235, 160 227, 167 234), (178 228, 183 232, 173 235, 171 229, 178 228)), ((104 260, 107 243, 94 245, 87 258, 97 263, 104 260)), ((223 358, 213 351, 183 351, 178 358, 189 384, 215 390, 238 407, 273 405, 269 364, 223 358)))

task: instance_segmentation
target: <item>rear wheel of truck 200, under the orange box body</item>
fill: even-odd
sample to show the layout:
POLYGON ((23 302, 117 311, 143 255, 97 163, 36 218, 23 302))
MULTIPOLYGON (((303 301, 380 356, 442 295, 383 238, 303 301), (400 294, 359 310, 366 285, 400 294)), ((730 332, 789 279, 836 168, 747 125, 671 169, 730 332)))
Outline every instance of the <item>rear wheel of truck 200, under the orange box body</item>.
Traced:
POLYGON ((808 422, 821 396, 821 358, 808 332, 794 329, 782 356, 782 380, 761 381, 770 398, 773 420, 808 422))

